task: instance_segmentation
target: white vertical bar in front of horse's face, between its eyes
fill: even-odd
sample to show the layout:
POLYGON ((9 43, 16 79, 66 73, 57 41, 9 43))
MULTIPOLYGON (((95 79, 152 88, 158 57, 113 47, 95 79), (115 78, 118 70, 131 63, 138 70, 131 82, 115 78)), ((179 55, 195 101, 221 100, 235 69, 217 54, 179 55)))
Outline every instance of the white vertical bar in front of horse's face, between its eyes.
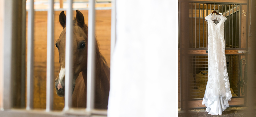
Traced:
POLYGON ((72 82, 73 82, 73 1, 67 0, 66 18, 66 55, 65 55, 65 107, 67 111, 72 106, 72 82))

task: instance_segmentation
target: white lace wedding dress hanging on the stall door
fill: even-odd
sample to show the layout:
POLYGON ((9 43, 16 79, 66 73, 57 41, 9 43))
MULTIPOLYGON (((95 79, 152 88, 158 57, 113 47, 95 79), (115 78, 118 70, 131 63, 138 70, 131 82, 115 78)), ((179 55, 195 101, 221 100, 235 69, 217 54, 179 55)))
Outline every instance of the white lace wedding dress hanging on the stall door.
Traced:
POLYGON ((202 104, 211 115, 221 115, 232 97, 226 68, 223 15, 210 14, 205 17, 208 22, 208 82, 202 104), (215 24, 214 19, 220 19, 215 24))

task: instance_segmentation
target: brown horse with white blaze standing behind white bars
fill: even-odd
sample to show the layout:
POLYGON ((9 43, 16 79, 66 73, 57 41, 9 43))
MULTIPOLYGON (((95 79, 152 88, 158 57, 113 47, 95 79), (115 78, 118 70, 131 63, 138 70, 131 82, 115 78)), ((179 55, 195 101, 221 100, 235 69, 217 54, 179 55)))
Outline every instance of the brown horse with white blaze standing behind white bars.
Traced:
MULTIPOLYGON (((56 47, 59 51, 60 68, 55 79, 55 88, 57 95, 64 97, 65 92, 65 43, 66 43, 66 15, 61 11, 59 21, 63 31, 56 41, 56 47)), ((73 107, 86 107, 86 89, 87 89, 87 38, 88 26, 84 22, 84 16, 76 10, 76 18, 73 25, 73 107), (83 77, 81 77, 82 72, 83 77)), ((96 40, 96 38, 95 38, 96 40)), ((95 108, 108 108, 109 95, 109 76, 110 68, 105 58, 101 55, 98 47, 98 41, 95 41, 95 108)))

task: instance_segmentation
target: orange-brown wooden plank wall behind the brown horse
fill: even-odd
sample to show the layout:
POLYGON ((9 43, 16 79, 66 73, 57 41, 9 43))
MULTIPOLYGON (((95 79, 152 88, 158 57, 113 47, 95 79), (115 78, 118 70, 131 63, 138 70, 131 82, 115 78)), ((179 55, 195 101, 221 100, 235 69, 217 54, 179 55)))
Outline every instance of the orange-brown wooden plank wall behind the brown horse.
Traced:
MULTIPOLYGON (((88 24, 88 10, 80 11, 84 15, 85 23, 88 24)), ((54 12, 54 43, 63 30, 59 23, 60 12, 54 12)), ((111 10, 96 10, 95 13, 95 33, 99 48, 110 66, 111 10)), ((76 15, 76 11, 73 11, 73 15, 76 15)), ((36 11, 34 23, 34 108, 44 109, 46 107, 47 11, 36 11)), ((55 80, 59 70, 59 55, 55 45, 52 46, 54 46, 55 80)), ((52 90, 54 90, 54 110, 62 110, 64 98, 56 95, 55 89, 52 90)))

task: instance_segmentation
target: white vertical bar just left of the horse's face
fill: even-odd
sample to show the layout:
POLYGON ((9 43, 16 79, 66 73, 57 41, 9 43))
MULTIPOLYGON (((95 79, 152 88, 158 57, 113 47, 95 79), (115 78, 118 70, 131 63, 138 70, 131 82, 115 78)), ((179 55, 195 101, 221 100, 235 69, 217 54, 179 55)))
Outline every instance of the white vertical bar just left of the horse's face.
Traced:
POLYGON ((54 47, 54 28, 53 28, 53 0, 48 0, 49 9, 47 16, 47 69, 46 69, 46 111, 53 110, 53 47, 54 47))

